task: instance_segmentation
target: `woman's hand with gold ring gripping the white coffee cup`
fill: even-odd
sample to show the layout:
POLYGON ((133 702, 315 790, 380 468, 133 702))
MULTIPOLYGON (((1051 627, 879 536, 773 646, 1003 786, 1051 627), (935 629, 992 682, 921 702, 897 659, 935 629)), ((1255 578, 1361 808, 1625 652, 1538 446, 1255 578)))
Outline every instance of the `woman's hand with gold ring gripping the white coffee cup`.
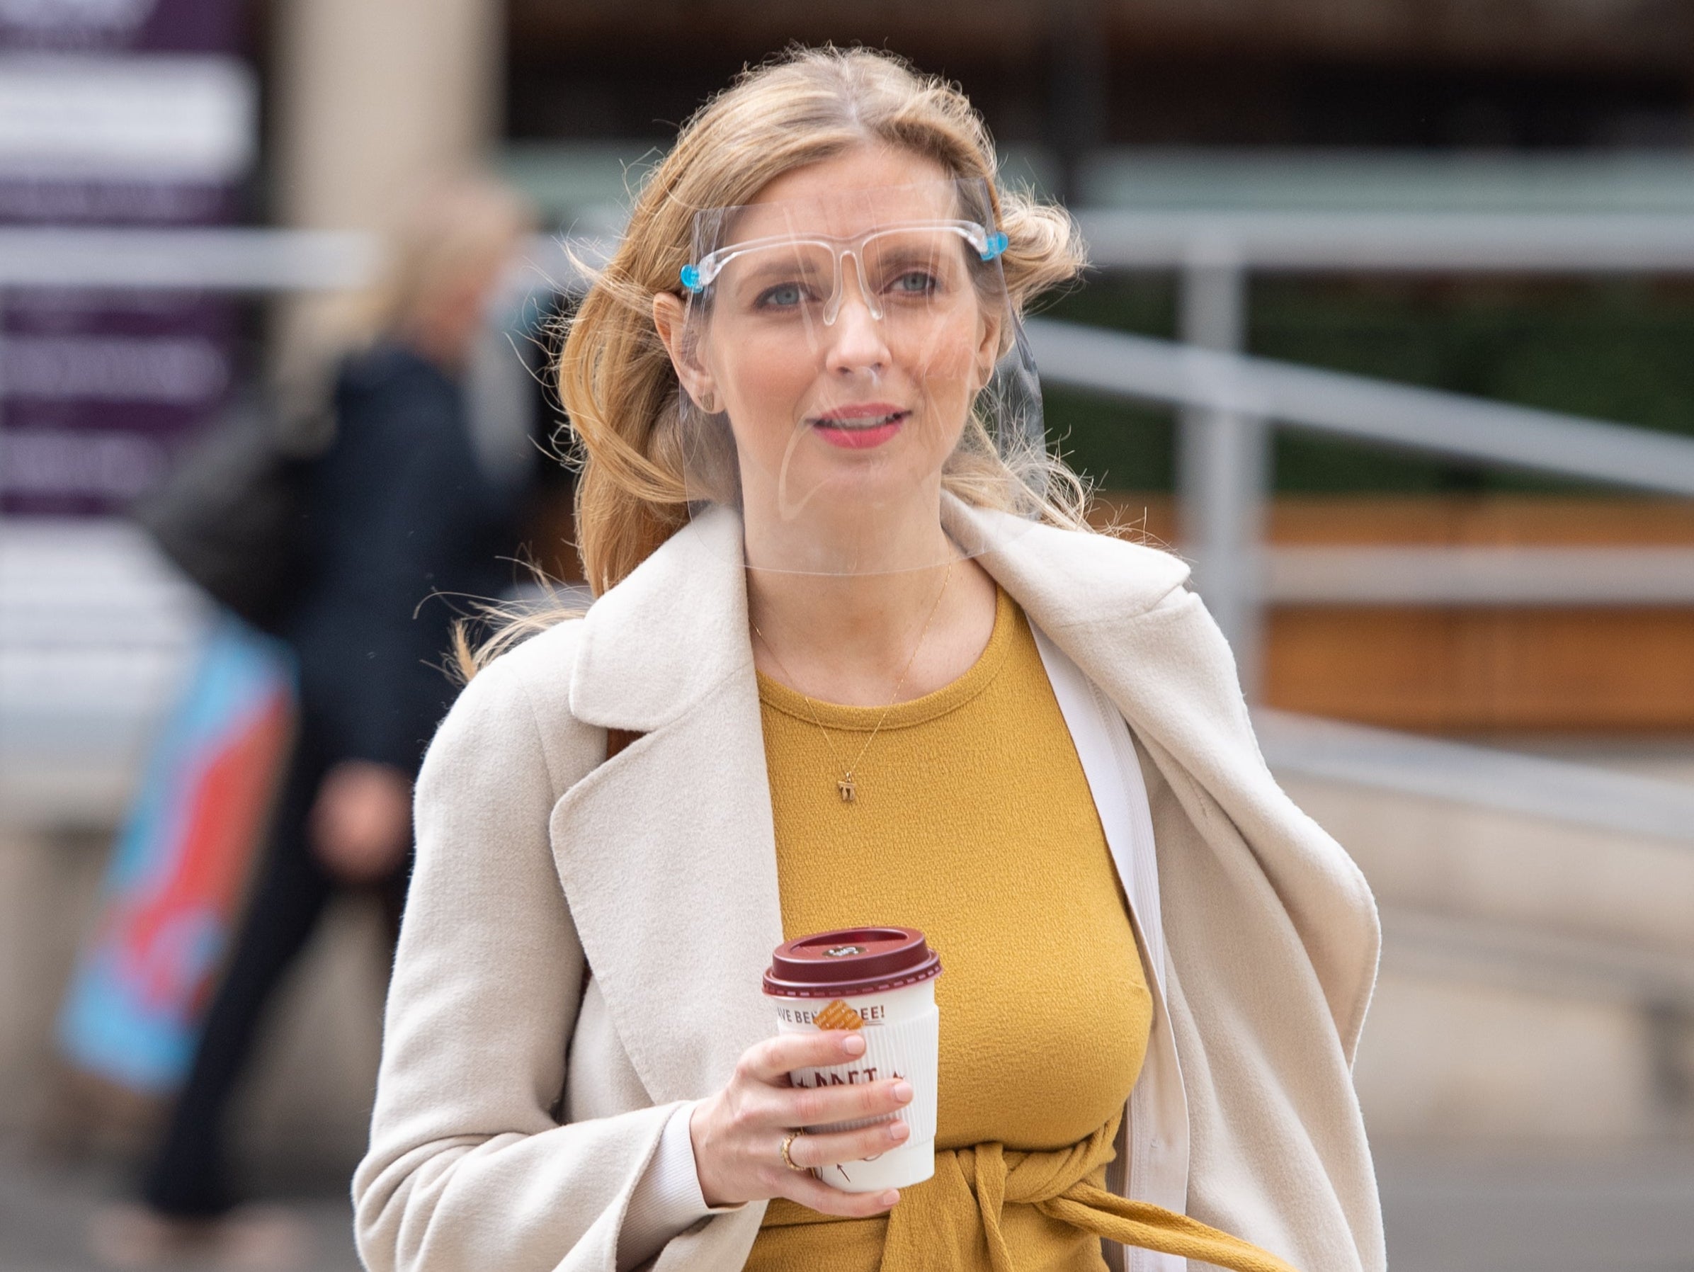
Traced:
MULTIPOLYGON (((881 1079, 854 1086, 791 1087, 794 1069, 845 1064, 864 1055, 864 1038, 850 1030, 783 1033, 749 1047, 730 1084, 700 1101, 688 1120, 695 1170, 708 1206, 788 1197, 823 1214, 881 1214, 900 1192, 842 1192, 810 1170, 791 1170, 783 1140, 801 1126, 827 1126, 894 1113, 911 1103, 911 1084, 881 1079)), ((859 1162, 905 1143, 911 1128, 898 1118, 855 1131, 798 1135, 789 1157, 798 1167, 859 1162)))

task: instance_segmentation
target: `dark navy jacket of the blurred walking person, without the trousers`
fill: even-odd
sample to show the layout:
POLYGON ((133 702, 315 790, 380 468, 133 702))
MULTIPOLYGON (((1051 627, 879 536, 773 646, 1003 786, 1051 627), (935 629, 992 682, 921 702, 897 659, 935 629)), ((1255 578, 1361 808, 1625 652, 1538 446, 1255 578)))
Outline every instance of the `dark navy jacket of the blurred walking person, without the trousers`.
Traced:
POLYGON ((308 500, 310 584, 286 632, 302 727, 329 762, 415 774, 454 696, 442 666, 456 613, 512 584, 512 500, 478 462, 461 384, 408 349, 349 357, 335 420, 308 500))

